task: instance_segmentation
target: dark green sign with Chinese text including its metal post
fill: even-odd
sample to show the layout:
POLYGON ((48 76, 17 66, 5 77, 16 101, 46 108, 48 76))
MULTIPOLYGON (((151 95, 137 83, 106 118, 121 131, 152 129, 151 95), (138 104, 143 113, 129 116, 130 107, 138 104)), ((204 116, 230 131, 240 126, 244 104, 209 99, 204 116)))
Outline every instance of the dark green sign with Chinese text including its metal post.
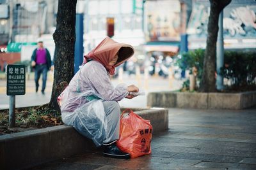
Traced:
POLYGON ((8 64, 6 87, 10 96, 9 127, 15 127, 15 96, 26 93, 26 66, 8 64))

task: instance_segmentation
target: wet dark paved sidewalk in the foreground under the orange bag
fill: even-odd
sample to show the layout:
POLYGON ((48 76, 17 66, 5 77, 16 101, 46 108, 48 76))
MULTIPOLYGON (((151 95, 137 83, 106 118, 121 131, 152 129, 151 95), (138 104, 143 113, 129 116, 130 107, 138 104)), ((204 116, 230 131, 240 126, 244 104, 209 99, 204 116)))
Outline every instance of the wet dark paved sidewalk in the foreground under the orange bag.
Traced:
POLYGON ((169 130, 154 134, 152 154, 103 157, 100 150, 56 160, 40 169, 256 169, 256 108, 169 109, 169 130))

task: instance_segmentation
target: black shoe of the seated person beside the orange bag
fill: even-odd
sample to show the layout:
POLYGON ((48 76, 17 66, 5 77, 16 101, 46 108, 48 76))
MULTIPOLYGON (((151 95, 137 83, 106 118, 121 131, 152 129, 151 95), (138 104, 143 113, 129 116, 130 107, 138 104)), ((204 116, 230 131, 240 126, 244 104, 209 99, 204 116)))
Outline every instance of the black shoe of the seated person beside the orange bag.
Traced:
POLYGON ((130 153, 122 152, 117 146, 116 143, 111 145, 104 145, 103 155, 106 157, 128 159, 131 157, 130 153))

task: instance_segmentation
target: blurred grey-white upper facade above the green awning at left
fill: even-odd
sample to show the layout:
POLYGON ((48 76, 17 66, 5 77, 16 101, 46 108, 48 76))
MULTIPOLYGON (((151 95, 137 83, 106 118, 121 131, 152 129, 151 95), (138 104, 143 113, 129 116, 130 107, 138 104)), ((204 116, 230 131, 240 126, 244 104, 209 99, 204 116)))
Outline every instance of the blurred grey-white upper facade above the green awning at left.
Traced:
POLYGON ((35 42, 42 34, 51 34, 56 25, 58 1, 1 0, 0 34, 11 42, 35 42))

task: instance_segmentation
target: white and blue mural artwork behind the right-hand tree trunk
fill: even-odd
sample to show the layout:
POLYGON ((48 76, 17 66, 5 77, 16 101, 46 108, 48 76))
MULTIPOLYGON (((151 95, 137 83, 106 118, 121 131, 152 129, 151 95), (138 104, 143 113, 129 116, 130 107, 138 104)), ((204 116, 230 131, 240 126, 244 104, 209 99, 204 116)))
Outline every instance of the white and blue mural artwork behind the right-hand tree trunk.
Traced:
MULTIPOLYGON (((189 41, 200 41, 198 39, 205 41, 209 13, 209 6, 195 3, 187 29, 189 41)), ((224 39, 235 39, 237 48, 241 39, 255 39, 256 4, 227 6, 223 11, 223 37, 224 39)), ((244 47, 246 47, 245 43, 241 48, 244 47)))

